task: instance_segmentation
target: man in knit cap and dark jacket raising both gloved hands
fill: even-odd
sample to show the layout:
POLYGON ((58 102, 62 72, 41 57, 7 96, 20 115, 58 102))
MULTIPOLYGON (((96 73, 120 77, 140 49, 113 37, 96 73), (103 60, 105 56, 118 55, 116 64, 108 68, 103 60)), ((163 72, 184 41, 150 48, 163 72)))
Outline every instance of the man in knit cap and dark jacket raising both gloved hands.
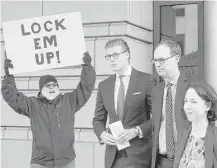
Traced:
POLYGON ((30 118, 33 135, 31 168, 75 167, 74 117, 94 89, 96 74, 91 60, 86 52, 81 80, 74 91, 62 95, 56 78, 45 75, 39 80, 38 97, 27 97, 17 90, 14 77, 8 71, 13 65, 9 59, 5 60, 2 95, 17 113, 30 118))

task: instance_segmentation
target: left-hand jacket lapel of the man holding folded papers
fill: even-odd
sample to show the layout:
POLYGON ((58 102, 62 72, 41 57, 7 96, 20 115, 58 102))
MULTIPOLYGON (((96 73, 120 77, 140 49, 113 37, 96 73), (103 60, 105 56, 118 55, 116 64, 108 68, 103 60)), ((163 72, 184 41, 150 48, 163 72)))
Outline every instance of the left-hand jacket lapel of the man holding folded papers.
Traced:
POLYGON ((106 85, 106 97, 108 98, 105 102, 107 103, 109 107, 109 111, 111 112, 111 115, 114 117, 114 120, 119 120, 117 113, 115 111, 115 104, 114 104, 114 90, 115 90, 115 80, 116 80, 116 75, 111 76, 108 79, 107 85, 106 85))

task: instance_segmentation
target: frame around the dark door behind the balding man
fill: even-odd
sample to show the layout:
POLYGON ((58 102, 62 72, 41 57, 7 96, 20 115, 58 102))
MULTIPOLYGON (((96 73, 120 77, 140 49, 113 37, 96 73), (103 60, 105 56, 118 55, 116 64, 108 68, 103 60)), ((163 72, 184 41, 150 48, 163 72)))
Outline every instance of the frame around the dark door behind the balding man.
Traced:
MULTIPOLYGON (((170 5, 198 5, 198 78, 204 78, 204 1, 153 1, 153 53, 160 42, 160 8, 170 5)), ((153 72, 156 73, 153 66, 153 72)))

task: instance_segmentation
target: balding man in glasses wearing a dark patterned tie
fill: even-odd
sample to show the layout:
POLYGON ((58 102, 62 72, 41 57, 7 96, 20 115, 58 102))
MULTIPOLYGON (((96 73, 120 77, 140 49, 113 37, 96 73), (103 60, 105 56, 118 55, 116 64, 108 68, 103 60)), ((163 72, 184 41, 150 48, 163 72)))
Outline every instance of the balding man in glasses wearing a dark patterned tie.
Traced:
POLYGON ((172 168, 177 140, 188 120, 182 111, 189 79, 179 70, 181 48, 172 40, 160 42, 152 63, 160 76, 153 92, 153 148, 152 168, 172 168))

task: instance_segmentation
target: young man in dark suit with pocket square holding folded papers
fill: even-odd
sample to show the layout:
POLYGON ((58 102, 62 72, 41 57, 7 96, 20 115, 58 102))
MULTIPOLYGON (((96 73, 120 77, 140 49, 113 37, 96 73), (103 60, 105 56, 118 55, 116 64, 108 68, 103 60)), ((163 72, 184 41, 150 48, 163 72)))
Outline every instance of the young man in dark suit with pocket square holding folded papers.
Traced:
POLYGON ((122 39, 107 42, 105 59, 114 75, 99 84, 94 131, 106 144, 105 168, 149 168, 151 163, 151 87, 152 75, 130 66, 130 49, 122 39), (124 131, 116 138, 106 130, 109 123, 122 121, 124 131), (117 142, 130 142, 118 151, 117 142))

